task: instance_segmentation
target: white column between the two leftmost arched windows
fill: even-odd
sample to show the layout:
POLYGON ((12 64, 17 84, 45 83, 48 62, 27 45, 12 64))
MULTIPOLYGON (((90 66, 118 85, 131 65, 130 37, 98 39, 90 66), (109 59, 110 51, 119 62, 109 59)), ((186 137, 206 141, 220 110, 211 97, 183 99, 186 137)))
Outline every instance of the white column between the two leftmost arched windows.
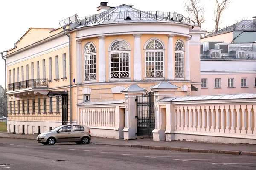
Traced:
POLYGON ((105 37, 98 37, 99 38, 99 65, 98 65, 98 72, 99 72, 99 82, 106 81, 106 63, 105 63, 105 37))

